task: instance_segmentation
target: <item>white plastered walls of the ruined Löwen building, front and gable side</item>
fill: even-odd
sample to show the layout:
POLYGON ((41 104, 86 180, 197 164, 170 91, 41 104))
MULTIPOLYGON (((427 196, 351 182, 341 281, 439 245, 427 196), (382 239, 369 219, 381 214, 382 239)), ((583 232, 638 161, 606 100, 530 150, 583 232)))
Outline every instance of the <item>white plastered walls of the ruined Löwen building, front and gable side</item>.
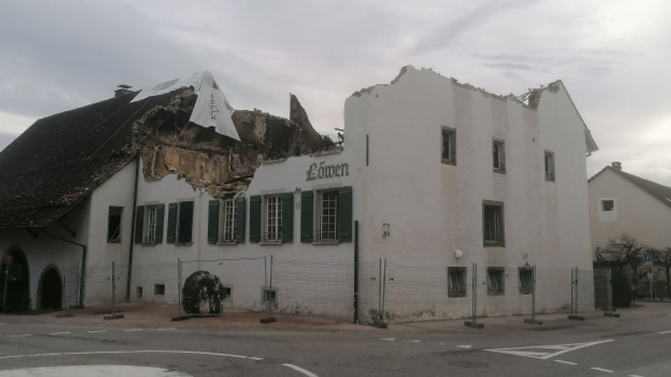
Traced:
MULTIPOLYGON (((81 209, 82 224, 87 225, 82 225, 78 239, 89 248, 86 303, 108 299, 107 276, 89 274, 112 261, 121 276, 117 297, 125 296, 132 247, 131 300, 178 302, 180 283, 203 269, 231 288, 226 306, 263 310, 272 256, 276 310, 352 318, 356 273, 359 319, 363 320, 375 316, 380 304, 380 260, 386 258, 389 320, 468 316, 473 263, 478 266, 479 315, 531 310, 531 295, 519 289, 519 268, 525 265, 537 266, 537 310, 565 309, 570 304, 570 269, 591 270, 586 128, 561 82, 543 89, 538 101, 532 108, 430 70, 406 68, 394 83, 365 89, 347 99, 344 150, 266 162, 256 170, 247 191, 240 193, 246 218, 244 241, 238 243, 208 242, 212 200, 208 193, 195 190, 176 175, 145 181, 140 169, 136 205, 144 211, 152 205, 162 208, 159 228, 163 236, 161 242, 143 239, 131 246, 136 170, 134 164, 128 165, 96 188, 81 209), (456 163, 442 161, 444 129, 456 138, 452 146, 456 163), (494 140, 503 142, 505 173, 493 171, 494 140), (554 159, 551 181, 546 180, 547 153, 554 159), (332 167, 326 174, 329 177, 320 175, 319 167, 326 166, 332 167), (318 195, 349 187, 352 233, 358 222, 358 237, 352 235, 345 242, 301 239, 303 193, 315 194, 317 219, 318 195), (293 198, 291 242, 251 242, 252 200, 261 197, 261 228, 265 230, 266 200, 279 194, 293 198), (168 243, 169 204, 182 201, 194 203, 192 239, 168 243), (504 242, 499 246, 484 246, 484 205, 491 203, 501 211, 496 212, 503 226, 504 242), (106 240, 110 205, 124 207, 122 242, 118 244, 106 240), (181 271, 178 259, 187 261, 181 271), (450 267, 468 268, 461 281, 468 286, 463 297, 449 293, 454 288, 450 267), (496 294, 488 293, 488 267, 503 267, 503 288, 496 294)), ((147 221, 142 219, 143 232, 147 221)), ((312 225, 316 229, 318 221, 312 225)), ((25 237, 30 236, 26 233, 25 237)), ((59 251, 71 263, 80 258, 81 248, 59 247, 72 249, 59 251)), ((41 257, 29 253, 29 258, 41 257)), ((39 263, 30 263, 31 271, 39 268, 39 263)), ((586 280, 582 308, 593 306, 593 288, 586 280)))

